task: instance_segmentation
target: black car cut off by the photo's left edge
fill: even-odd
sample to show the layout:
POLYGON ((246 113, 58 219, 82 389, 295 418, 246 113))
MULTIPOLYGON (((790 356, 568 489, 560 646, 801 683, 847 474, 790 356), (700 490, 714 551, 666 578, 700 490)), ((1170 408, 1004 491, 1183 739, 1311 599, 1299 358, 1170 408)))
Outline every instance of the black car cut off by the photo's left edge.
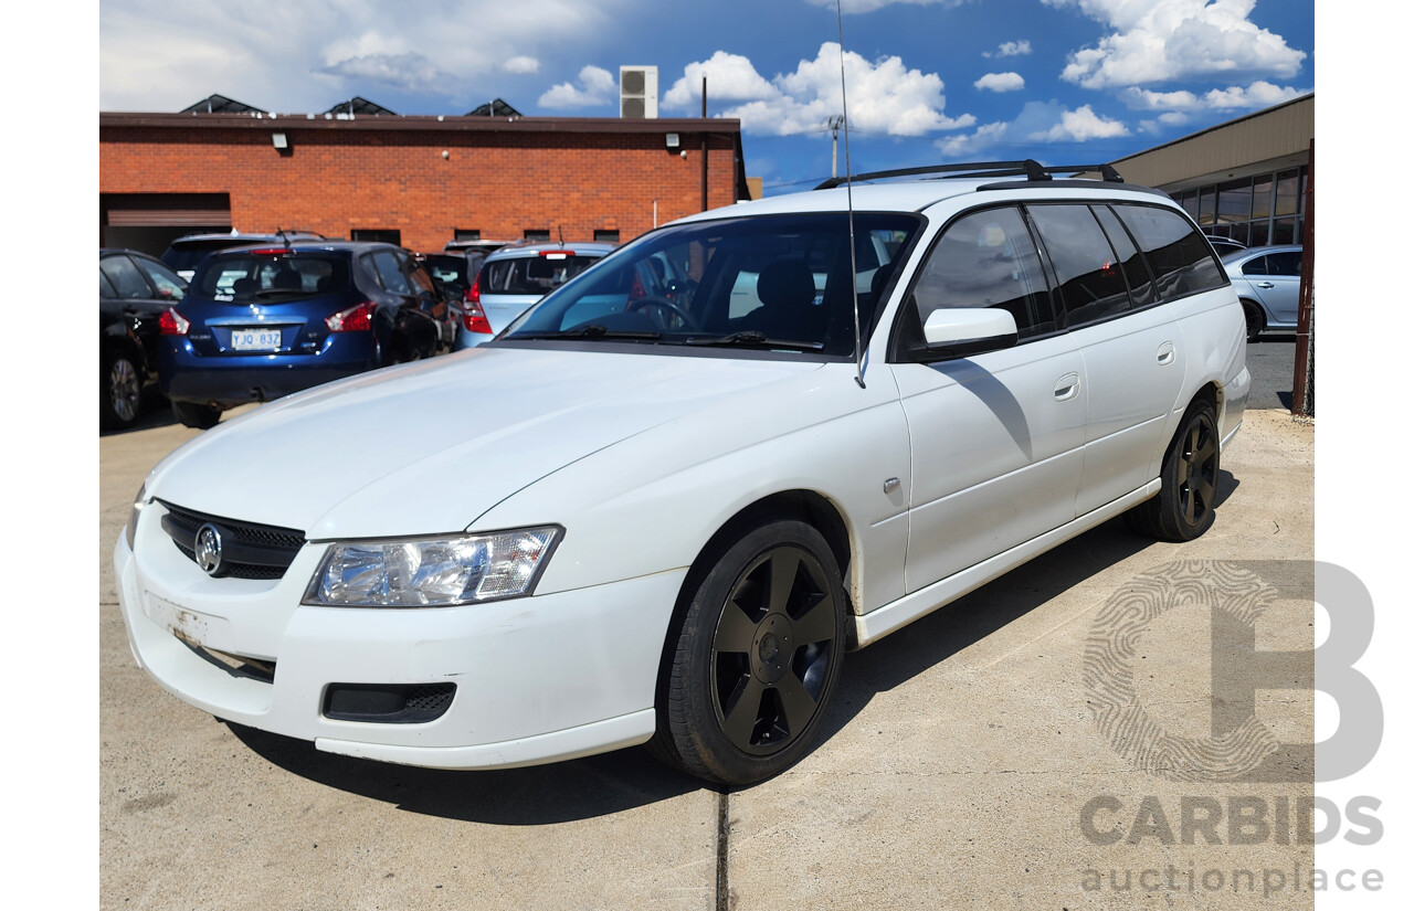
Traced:
POLYGON ((187 282, 136 250, 98 251, 99 395, 102 429, 132 427, 157 379, 158 321, 187 282))

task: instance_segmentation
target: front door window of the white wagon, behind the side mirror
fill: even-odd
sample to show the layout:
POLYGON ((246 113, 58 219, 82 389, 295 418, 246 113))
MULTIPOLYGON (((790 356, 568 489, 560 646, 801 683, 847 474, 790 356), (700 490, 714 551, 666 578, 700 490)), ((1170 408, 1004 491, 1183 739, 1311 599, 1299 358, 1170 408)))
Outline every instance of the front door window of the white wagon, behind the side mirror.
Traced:
POLYGON ((919 331, 936 309, 984 306, 1008 311, 1018 339, 1055 329, 1041 257, 1014 208, 949 225, 919 268, 911 304, 919 331))

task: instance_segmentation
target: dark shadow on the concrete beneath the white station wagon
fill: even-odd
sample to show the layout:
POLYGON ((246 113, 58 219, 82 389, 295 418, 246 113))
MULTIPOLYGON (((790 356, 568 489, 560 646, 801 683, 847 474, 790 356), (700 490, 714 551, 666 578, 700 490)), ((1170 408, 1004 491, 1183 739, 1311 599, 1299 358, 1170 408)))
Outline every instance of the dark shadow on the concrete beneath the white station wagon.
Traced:
MULTIPOLYGON (((1220 472, 1217 504, 1239 482, 1220 472)), ((906 630, 846 655, 816 747, 844 729, 877 695, 1035 610, 1062 592, 1152 544, 1111 520, 1032 559, 906 630)), ((492 825, 592 819, 683 794, 715 790, 652 758, 643 749, 568 763, 491 771, 392 766, 320 753, 312 743, 228 723, 242 743, 280 768, 331 788, 414 814, 492 825)))

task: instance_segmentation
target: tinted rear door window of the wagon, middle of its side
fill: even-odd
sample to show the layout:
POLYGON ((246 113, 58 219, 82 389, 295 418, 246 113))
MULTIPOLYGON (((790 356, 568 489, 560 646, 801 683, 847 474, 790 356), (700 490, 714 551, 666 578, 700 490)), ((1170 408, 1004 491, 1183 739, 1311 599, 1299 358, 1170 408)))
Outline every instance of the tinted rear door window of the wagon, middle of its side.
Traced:
POLYGON ((1130 291, 1118 256, 1089 206, 1027 206, 1027 213, 1051 254, 1072 328, 1130 311, 1130 291))

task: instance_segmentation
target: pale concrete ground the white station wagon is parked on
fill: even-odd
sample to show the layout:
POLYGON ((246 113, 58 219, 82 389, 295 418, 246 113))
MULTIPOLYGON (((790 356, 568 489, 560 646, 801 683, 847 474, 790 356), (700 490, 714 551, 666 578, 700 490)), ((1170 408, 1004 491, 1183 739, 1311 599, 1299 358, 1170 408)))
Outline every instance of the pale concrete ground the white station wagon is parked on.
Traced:
POLYGON ((1314 904, 1309 662, 1281 671, 1295 689, 1244 678, 1253 648, 1314 644, 1314 427, 1284 411, 1247 412, 1203 538, 1155 544, 1111 523, 847 655, 819 746, 731 794, 641 750, 495 773, 383 766, 164 693, 129 653, 110 551, 143 476, 198 434, 156 419, 99 443, 103 908, 1314 904), (1236 590, 1257 592, 1253 641, 1230 636, 1236 590), (1117 633, 1135 603, 1144 627, 1117 633), (1113 723, 1117 686, 1167 740, 1113 723), (1212 747, 1233 692, 1298 746, 1256 773, 1219 749, 1195 778, 1184 747, 1212 747))

